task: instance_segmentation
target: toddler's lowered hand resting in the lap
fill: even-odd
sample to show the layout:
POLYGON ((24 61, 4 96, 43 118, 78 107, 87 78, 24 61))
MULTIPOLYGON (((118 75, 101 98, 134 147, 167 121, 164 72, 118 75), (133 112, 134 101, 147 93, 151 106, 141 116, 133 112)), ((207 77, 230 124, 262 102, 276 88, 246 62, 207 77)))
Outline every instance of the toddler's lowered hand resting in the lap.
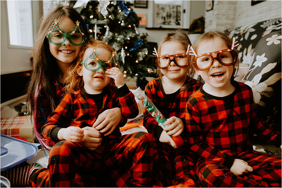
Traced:
POLYGON ((68 128, 61 128, 58 133, 59 140, 68 140, 71 142, 78 142, 84 137, 84 131, 80 127, 70 126, 68 128))

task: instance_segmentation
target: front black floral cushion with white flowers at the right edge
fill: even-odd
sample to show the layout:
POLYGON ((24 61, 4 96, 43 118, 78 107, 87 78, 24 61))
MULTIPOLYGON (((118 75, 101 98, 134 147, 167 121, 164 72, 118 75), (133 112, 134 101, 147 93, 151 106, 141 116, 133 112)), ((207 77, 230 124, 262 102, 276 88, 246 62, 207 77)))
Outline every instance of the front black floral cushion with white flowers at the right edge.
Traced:
POLYGON ((252 64, 242 79, 252 88, 255 106, 263 119, 281 117, 281 39, 279 31, 258 41, 252 64))

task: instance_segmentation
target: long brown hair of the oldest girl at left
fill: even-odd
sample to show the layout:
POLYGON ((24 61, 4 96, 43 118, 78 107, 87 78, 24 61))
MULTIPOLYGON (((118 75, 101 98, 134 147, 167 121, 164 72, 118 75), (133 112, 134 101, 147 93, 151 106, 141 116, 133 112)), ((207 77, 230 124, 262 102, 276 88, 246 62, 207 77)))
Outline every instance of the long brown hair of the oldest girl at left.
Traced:
MULTIPOLYGON (((33 71, 27 89, 26 98, 27 108, 30 107, 31 112, 34 113, 34 123, 36 123, 36 114, 40 113, 39 108, 37 108, 37 104, 38 98, 42 93, 47 96, 45 100, 49 106, 49 109, 47 109, 49 112, 52 112, 57 105, 55 104, 56 91, 54 91, 53 82, 56 82, 56 79, 62 77, 63 72, 58 67, 55 57, 49 50, 49 42, 46 38, 46 34, 49 32, 49 29, 55 19, 62 20, 64 17, 70 18, 74 23, 78 20, 84 34, 87 39, 89 39, 88 29, 84 20, 80 14, 70 6, 62 4, 54 5, 48 11, 46 16, 40 19, 40 26, 36 34, 34 47, 31 53, 33 71)), ((38 131, 40 130, 37 130, 36 126, 34 126, 34 133, 37 138, 39 137, 38 131)), ((38 138, 38 140, 40 141, 40 138, 38 138)))

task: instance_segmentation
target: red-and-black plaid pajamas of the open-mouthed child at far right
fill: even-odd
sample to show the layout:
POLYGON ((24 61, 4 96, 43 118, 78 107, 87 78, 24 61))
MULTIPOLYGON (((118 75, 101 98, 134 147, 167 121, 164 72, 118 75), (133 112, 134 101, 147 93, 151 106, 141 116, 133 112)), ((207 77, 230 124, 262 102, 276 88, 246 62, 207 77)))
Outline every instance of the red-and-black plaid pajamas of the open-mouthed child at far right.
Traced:
POLYGON ((191 150, 198 155, 196 171, 207 187, 281 187, 281 158, 253 151, 254 133, 277 147, 281 134, 274 132, 254 112, 253 91, 232 81, 236 90, 215 97, 202 87, 187 102, 186 129, 191 150), (234 175, 234 159, 242 159, 253 172, 234 175))

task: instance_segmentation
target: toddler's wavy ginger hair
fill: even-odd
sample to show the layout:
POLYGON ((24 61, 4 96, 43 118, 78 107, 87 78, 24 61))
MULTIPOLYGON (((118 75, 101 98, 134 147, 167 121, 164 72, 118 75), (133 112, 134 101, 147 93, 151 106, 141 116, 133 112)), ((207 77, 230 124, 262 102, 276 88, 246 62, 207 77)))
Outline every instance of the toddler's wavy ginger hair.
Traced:
MULTIPOLYGON (((86 42, 80 50, 80 53, 79 53, 79 55, 76 59, 76 63, 72 64, 69 67, 69 70, 67 71, 66 82, 68 82, 68 84, 65 86, 65 90, 67 92, 76 93, 75 91, 80 89, 83 86, 82 76, 78 75, 77 70, 78 70, 79 66, 83 66, 83 65, 80 65, 80 62, 83 61, 83 55, 84 55, 86 49, 88 49, 88 48, 104 48, 105 50, 108 50, 110 53, 114 52, 114 49, 109 44, 106 44, 106 43, 104 43, 100 40, 92 39, 92 40, 86 42)), ((116 86, 114 84, 113 78, 110 79, 110 82, 106 86, 106 88, 110 92, 115 91, 116 86)))

